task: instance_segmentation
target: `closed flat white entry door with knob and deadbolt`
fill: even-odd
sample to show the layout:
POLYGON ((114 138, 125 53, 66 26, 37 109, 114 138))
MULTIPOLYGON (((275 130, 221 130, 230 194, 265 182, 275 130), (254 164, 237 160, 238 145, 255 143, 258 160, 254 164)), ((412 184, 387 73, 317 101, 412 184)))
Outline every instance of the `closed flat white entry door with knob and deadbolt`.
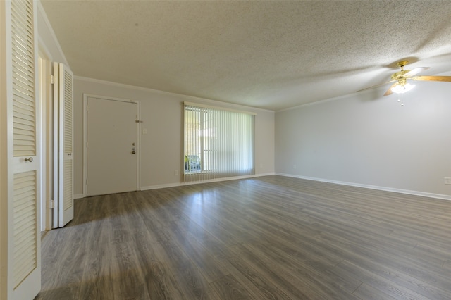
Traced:
POLYGON ((87 196, 137 190, 138 108, 87 98, 87 196))

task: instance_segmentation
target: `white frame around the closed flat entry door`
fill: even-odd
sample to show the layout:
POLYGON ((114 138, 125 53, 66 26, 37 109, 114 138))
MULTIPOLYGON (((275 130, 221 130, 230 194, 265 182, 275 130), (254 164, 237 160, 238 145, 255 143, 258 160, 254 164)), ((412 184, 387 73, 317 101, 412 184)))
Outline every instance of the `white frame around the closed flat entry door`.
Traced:
POLYGON ((130 100, 130 99, 123 99, 123 98, 116 98, 111 96, 101 96, 96 94, 83 94, 83 197, 87 196, 87 128, 88 128, 88 122, 87 122, 87 101, 89 98, 99 98, 103 100, 109 100, 109 101, 121 101, 121 102, 128 102, 128 103, 134 103, 137 104, 137 126, 136 126, 136 136, 137 136, 137 180, 136 180, 136 190, 141 190, 141 103, 140 101, 130 100))

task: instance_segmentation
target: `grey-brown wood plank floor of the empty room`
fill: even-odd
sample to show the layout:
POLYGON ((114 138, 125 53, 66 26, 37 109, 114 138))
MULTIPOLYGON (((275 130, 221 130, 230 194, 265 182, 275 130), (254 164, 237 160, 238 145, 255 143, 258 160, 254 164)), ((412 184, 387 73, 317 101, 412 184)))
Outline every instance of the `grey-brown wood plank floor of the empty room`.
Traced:
POLYGON ((37 299, 451 299, 451 201, 281 176, 78 199, 37 299))

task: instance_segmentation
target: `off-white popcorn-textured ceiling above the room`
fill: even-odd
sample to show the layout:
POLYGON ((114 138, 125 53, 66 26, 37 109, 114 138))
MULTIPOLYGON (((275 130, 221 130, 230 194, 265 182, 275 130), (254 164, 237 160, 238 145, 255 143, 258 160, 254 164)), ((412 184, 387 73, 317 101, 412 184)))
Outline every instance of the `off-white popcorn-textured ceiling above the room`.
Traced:
POLYGON ((41 2, 75 75, 274 111, 451 70, 451 1, 41 2))

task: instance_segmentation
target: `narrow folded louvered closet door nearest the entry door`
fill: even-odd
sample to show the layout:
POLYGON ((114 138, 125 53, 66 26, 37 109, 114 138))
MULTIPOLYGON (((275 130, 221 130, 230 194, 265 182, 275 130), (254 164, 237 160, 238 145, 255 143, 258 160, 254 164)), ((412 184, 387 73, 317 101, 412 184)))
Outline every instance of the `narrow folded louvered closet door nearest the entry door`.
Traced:
POLYGON ((58 197, 54 227, 63 227, 73 219, 73 73, 63 63, 54 63, 54 111, 55 139, 54 153, 58 154, 54 191, 58 197))

